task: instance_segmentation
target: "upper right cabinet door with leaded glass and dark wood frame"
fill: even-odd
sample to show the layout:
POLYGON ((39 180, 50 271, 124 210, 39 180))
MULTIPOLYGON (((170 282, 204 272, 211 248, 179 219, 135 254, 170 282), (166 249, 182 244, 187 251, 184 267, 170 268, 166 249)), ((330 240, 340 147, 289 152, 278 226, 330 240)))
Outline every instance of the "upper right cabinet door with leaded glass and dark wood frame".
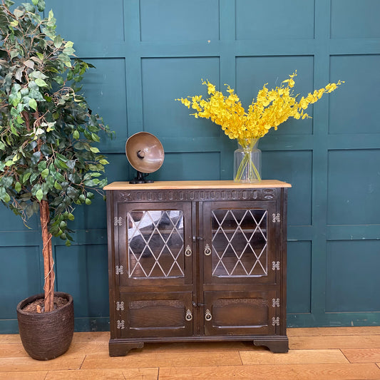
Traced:
POLYGON ((203 203, 205 284, 275 284, 276 201, 203 203), (273 217, 274 215, 274 217, 273 217))

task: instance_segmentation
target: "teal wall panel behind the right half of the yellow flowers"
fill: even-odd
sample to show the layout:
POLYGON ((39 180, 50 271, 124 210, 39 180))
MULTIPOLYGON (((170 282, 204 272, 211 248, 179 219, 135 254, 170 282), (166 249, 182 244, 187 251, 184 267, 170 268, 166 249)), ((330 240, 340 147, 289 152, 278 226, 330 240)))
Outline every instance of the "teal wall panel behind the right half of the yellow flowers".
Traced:
MULTIPOLYGON (((236 93, 245 109, 256 98, 262 86, 267 88, 281 86, 282 81, 297 70, 294 78, 294 94, 307 95, 312 92, 314 76, 314 58, 312 56, 239 56, 236 58, 236 93)), ((312 106, 307 113, 312 116, 312 106)), ((310 134, 312 133, 312 119, 295 120, 290 118, 279 125, 278 130, 271 130, 270 134, 310 134)))

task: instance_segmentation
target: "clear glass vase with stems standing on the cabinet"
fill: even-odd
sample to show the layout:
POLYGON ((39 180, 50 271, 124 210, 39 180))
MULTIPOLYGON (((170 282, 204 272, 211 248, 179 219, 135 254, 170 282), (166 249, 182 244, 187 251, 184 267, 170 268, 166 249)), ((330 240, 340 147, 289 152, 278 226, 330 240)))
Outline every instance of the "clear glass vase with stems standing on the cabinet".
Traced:
POLYGON ((257 149, 259 138, 237 140, 234 153, 234 181, 255 183, 261 181, 261 150, 257 149))

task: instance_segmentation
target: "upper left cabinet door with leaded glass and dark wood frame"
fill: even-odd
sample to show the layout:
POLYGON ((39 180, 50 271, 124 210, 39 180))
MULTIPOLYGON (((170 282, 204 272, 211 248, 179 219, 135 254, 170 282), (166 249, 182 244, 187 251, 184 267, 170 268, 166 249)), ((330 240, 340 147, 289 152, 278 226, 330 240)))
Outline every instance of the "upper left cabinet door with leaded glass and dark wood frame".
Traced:
POLYGON ((190 202, 118 204, 120 286, 192 283, 190 202))

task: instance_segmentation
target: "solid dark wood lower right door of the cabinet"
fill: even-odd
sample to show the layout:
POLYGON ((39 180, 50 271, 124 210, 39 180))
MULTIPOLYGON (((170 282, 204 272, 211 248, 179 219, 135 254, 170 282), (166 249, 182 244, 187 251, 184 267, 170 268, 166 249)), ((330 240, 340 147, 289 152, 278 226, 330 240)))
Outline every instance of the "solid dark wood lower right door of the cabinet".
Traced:
POLYGON ((274 335, 277 292, 205 292, 205 335, 274 335))

